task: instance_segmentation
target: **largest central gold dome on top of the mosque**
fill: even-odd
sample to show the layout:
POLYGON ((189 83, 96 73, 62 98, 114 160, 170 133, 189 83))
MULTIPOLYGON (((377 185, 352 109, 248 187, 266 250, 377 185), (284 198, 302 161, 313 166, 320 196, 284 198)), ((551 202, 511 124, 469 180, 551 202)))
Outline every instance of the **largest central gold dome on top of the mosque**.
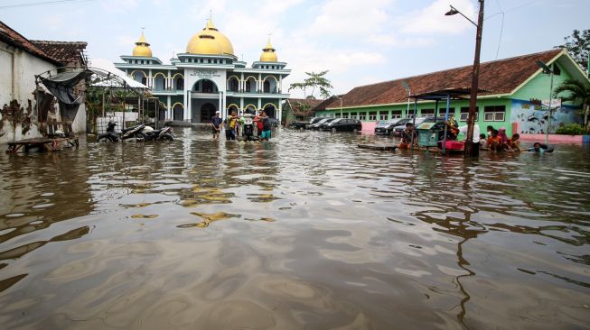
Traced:
POLYGON ((192 36, 186 45, 186 52, 205 55, 233 55, 233 46, 228 37, 215 28, 210 18, 205 28, 192 36))

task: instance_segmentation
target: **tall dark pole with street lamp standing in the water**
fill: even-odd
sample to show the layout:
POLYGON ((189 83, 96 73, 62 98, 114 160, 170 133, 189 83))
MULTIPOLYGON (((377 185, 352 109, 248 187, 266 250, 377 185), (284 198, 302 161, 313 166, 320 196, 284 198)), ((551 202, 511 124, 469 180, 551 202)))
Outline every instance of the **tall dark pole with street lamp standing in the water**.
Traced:
POLYGON ((472 70, 472 86, 471 96, 469 98, 469 116, 467 117, 467 140, 465 141, 464 155, 466 157, 473 157, 477 155, 477 151, 473 148, 473 126, 475 119, 475 109, 477 107, 477 89, 480 78, 480 52, 482 50, 482 29, 483 29, 483 0, 478 0, 480 3, 480 10, 477 16, 477 23, 473 22, 469 17, 459 12, 454 6, 451 5, 451 10, 445 13, 447 16, 454 14, 461 14, 467 21, 473 23, 477 27, 477 33, 475 34, 475 56, 473 58, 473 70, 472 70))

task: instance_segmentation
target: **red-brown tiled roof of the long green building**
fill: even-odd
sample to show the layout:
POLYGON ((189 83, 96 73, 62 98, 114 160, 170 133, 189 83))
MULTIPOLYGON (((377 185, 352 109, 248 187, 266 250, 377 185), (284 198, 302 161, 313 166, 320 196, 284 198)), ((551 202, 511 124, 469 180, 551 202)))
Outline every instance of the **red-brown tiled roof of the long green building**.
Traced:
MULTIPOLYGON (((504 60, 492 60, 480 65, 479 88, 490 90, 486 94, 507 94, 519 87, 538 70, 536 60, 548 62, 562 50, 548 50, 504 60)), ((342 96, 342 106, 387 105, 407 101, 407 91, 401 82, 406 81, 413 95, 446 88, 470 88, 472 66, 446 69, 425 75, 384 81, 352 88, 342 96)), ((334 99, 329 108, 340 106, 334 99)))

